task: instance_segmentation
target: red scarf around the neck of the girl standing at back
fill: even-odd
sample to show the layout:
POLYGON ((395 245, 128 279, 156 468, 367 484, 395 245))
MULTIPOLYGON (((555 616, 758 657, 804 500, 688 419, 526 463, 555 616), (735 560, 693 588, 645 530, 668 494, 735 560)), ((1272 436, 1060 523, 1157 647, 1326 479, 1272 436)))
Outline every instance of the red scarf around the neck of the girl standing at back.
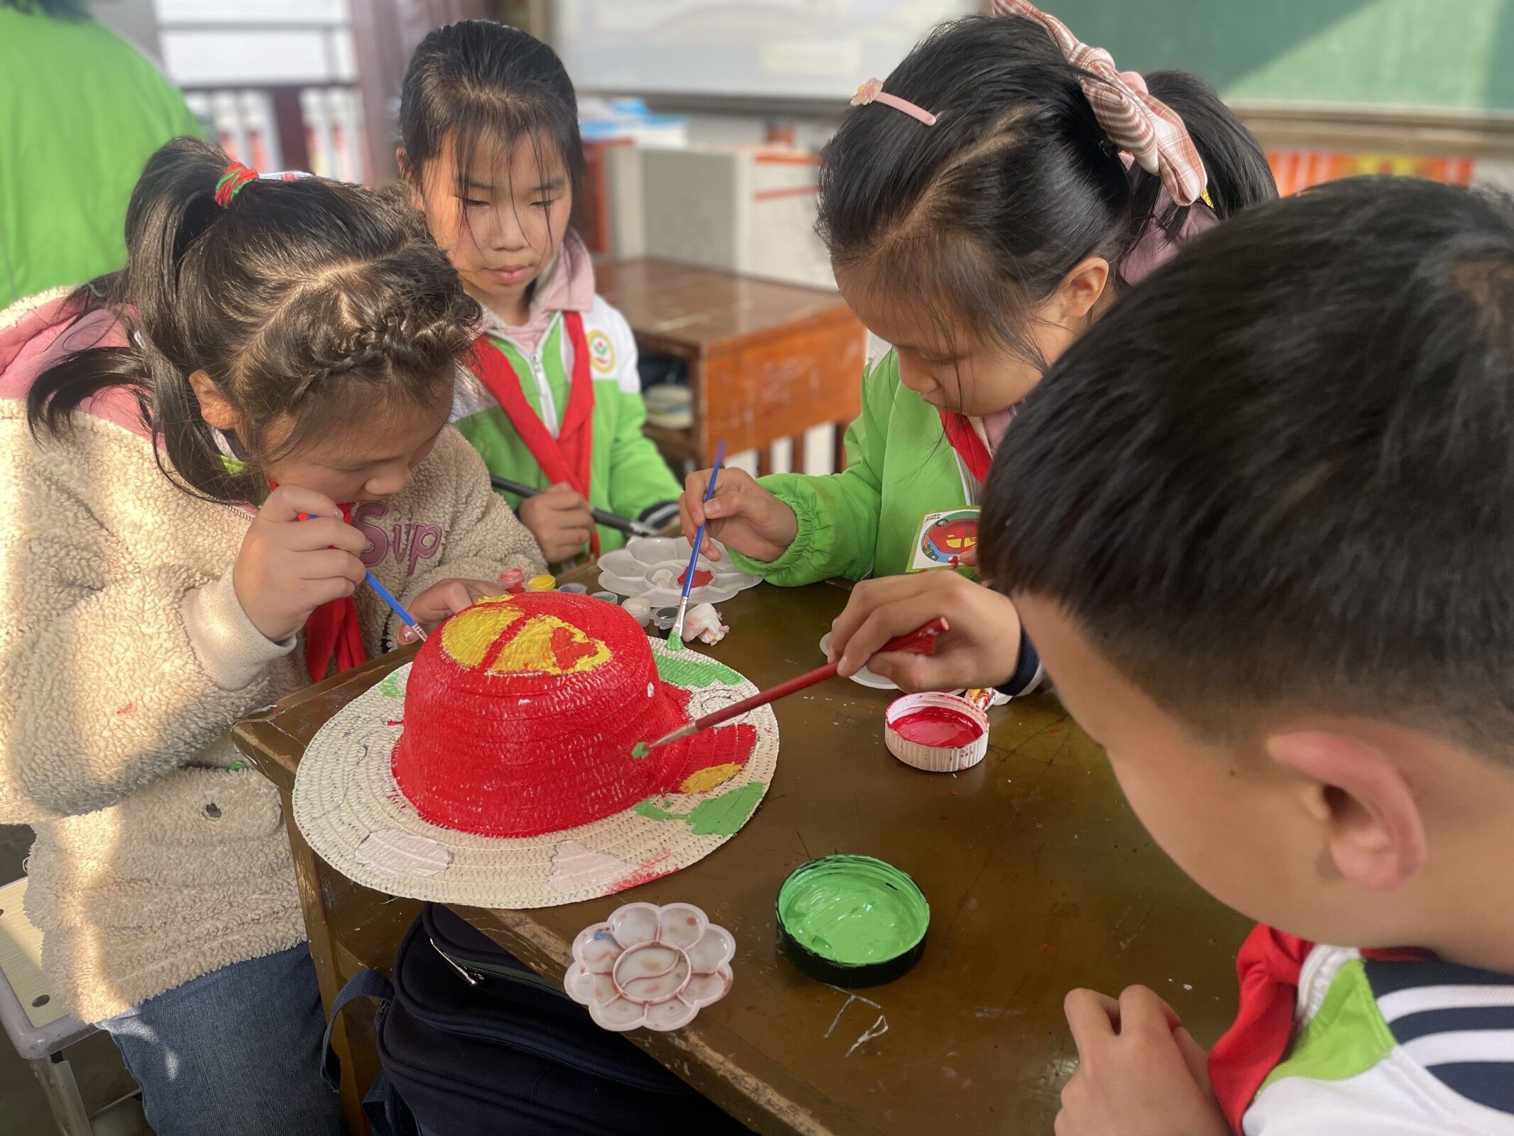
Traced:
MULTIPOLYGON (((471 368, 484 389, 495 397, 510 426, 542 467, 551 485, 566 482, 580 497, 589 500, 589 463, 593 456, 593 380, 589 376, 589 342, 583 335, 583 315, 563 312, 563 326, 572 344, 572 383, 568 406, 563 407, 557 436, 531 410, 521 386, 521 376, 509 356, 480 335, 474 342, 471 368)), ((600 554, 600 533, 590 530, 589 544, 600 554)))

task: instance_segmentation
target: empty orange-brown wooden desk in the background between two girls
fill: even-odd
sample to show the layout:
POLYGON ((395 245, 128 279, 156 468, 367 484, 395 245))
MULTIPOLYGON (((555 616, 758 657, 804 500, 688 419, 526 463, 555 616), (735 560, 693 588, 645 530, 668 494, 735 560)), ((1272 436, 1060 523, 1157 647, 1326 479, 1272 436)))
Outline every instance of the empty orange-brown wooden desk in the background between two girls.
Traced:
POLYGON ((802 473, 804 432, 833 424, 845 465, 868 335, 836 292, 650 259, 595 265, 595 279, 640 351, 689 364, 693 429, 646 429, 671 460, 707 465, 724 438, 768 473, 768 448, 790 438, 802 473))

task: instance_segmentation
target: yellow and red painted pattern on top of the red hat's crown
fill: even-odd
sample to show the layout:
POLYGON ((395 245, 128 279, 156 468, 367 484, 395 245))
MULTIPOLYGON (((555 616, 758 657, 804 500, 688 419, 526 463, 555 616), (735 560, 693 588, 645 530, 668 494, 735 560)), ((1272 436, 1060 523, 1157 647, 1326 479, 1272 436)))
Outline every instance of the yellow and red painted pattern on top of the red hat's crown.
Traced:
POLYGON ((494 674, 584 674, 610 659, 610 648, 556 615, 528 615, 500 595, 442 626, 442 650, 463 666, 494 674))

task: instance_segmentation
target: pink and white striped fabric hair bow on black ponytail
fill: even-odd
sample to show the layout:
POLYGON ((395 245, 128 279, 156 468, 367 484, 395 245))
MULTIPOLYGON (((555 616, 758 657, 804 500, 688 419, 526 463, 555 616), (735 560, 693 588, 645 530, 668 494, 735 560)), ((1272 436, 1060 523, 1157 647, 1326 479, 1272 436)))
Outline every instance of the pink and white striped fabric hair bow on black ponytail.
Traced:
POLYGON ((1208 174, 1204 159, 1182 118, 1146 91, 1146 80, 1136 71, 1117 71, 1102 47, 1089 47, 1057 17, 1046 15, 1028 0, 993 0, 996 15, 1019 15, 1045 27, 1073 67, 1087 71, 1083 95, 1093 117, 1110 139, 1149 174, 1157 174, 1176 204, 1208 200, 1208 174))

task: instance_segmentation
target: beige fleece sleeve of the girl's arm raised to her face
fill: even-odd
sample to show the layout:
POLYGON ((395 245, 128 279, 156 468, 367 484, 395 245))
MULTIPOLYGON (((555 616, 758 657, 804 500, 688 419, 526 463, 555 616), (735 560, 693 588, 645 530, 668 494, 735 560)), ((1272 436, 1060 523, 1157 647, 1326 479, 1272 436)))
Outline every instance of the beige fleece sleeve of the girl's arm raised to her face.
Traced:
POLYGON ((271 701, 260 671, 292 641, 245 624, 229 582, 135 568, 14 420, 0 500, 0 822, 114 804, 271 701))

